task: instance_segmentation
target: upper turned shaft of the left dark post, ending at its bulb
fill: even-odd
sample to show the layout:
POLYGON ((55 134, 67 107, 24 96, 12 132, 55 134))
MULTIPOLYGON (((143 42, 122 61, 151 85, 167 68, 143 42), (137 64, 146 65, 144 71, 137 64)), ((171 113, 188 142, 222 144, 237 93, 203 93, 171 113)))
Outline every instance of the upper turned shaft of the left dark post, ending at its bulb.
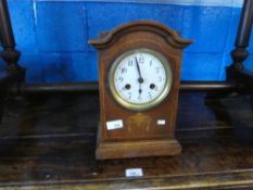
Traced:
POLYGON ((1 46, 3 47, 3 51, 0 53, 0 55, 8 64, 9 73, 15 74, 16 72, 21 72, 22 68, 17 65, 21 53, 15 50, 15 39, 7 0, 0 0, 0 40, 1 46))

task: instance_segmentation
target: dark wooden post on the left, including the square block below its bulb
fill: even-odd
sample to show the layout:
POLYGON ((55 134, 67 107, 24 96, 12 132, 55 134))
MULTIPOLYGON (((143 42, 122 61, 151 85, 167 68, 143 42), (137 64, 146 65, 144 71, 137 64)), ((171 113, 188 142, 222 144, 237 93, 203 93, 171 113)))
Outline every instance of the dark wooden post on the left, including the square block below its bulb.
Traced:
POLYGON ((25 78, 25 69, 18 66, 17 62, 21 52, 15 49, 15 39, 12 30, 7 0, 0 0, 0 42, 3 51, 0 56, 8 65, 8 71, 0 73, 0 123, 3 115, 5 101, 9 97, 9 89, 17 94, 21 84, 25 78))

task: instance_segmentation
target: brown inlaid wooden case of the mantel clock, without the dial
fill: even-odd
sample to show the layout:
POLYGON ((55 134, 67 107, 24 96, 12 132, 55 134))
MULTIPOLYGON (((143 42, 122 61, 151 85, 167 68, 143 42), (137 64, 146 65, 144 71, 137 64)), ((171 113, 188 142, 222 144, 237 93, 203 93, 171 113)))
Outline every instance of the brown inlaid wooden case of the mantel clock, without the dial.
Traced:
MULTIPOLYGON (((175 139, 175 123, 180 84, 182 49, 191 43, 173 29, 154 21, 135 21, 90 40, 99 54, 100 124, 97 160, 137 156, 177 155, 181 151, 175 139), (163 54, 173 72, 168 96, 159 105, 132 111, 119 105, 109 89, 109 71, 124 52, 146 48, 163 54), (123 121, 123 128, 106 129, 106 122, 123 121), (165 125, 157 125, 159 121, 165 125)), ((151 76, 152 77, 152 76, 151 76)))

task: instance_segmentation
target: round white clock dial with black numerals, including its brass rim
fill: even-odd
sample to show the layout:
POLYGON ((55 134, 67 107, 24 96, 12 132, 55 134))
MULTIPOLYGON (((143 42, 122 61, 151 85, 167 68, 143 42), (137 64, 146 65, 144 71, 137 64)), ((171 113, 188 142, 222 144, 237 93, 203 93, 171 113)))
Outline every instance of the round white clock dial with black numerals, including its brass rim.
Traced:
POLYGON ((170 90, 172 79, 168 61, 150 49, 123 53, 109 74, 112 96, 130 110, 148 110, 161 103, 170 90))

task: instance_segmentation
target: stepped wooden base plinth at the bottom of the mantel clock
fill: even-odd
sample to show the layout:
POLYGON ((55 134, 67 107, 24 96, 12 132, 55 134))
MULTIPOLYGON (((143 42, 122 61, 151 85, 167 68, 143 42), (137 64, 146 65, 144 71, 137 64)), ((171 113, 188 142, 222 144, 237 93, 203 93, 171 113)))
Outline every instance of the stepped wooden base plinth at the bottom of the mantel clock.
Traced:
POLYGON ((128 159, 141 156, 178 155, 180 153, 181 145, 176 139, 126 142, 99 142, 98 140, 96 159, 128 159))

